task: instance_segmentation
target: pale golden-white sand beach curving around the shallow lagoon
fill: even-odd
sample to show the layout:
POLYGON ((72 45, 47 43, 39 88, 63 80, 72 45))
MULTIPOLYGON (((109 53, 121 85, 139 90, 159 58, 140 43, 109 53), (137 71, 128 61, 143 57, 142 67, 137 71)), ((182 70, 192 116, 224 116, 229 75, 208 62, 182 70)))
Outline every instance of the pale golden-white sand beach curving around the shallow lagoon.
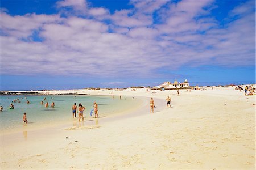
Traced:
POLYGON ((180 96, 145 88, 48 92, 141 96, 144 103, 125 116, 2 134, 1 169, 255 168, 255 96, 234 87, 180 90, 180 96))

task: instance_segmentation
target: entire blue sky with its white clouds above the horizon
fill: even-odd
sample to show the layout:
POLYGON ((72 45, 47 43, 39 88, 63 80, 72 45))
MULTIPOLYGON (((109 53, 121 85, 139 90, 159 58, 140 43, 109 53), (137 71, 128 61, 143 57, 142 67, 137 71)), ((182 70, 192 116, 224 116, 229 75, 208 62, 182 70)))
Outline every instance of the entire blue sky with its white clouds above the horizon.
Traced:
POLYGON ((255 82, 255 1, 1 1, 0 90, 255 82))

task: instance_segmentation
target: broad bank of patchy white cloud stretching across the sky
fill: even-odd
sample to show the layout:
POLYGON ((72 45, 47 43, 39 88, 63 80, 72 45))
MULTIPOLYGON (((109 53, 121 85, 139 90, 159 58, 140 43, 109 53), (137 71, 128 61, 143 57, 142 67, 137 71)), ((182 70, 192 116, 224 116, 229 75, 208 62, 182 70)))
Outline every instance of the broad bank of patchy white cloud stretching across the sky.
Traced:
POLYGON ((114 78, 152 76, 159 69, 184 65, 254 65, 251 4, 234 8, 227 20, 237 15, 238 19, 220 27, 213 16, 207 16, 210 11, 205 7, 211 3, 181 1, 161 8, 168 2, 131 1, 134 8, 110 14, 105 8, 88 7, 86 1, 59 1, 59 8, 83 12, 65 18, 60 14, 11 16, 3 11, 0 70, 2 74, 114 78), (160 23, 154 23, 156 10, 160 23), (33 41, 35 31, 42 41, 33 41))

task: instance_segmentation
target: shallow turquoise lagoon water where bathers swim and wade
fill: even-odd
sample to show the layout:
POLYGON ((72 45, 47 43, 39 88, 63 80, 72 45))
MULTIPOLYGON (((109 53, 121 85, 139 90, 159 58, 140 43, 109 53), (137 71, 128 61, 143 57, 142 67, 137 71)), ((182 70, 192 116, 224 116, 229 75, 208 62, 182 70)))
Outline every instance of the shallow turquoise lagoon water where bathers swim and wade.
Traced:
POLYGON ((84 112, 85 120, 91 118, 89 113, 93 108, 94 101, 98 104, 99 117, 122 113, 139 103, 139 99, 124 96, 122 100, 119 100, 118 96, 115 96, 114 99, 112 99, 112 96, 0 96, 0 99, 0 105, 3 107, 3 111, 0 112, 2 131, 22 128, 24 126, 22 120, 24 112, 27 113, 28 125, 36 127, 56 124, 57 122, 77 121, 72 118, 71 108, 74 103, 77 106, 81 103, 86 108, 84 112), (47 100, 43 100, 44 97, 47 100), (17 98, 19 98, 20 103, 13 103, 14 109, 8 109, 10 103, 17 98), (27 100, 30 101, 30 104, 27 104, 27 100), (44 104, 41 105, 41 101, 44 101, 44 104, 48 101, 49 107, 46 108, 44 104), (55 103, 55 108, 51 108, 52 102, 55 103))

